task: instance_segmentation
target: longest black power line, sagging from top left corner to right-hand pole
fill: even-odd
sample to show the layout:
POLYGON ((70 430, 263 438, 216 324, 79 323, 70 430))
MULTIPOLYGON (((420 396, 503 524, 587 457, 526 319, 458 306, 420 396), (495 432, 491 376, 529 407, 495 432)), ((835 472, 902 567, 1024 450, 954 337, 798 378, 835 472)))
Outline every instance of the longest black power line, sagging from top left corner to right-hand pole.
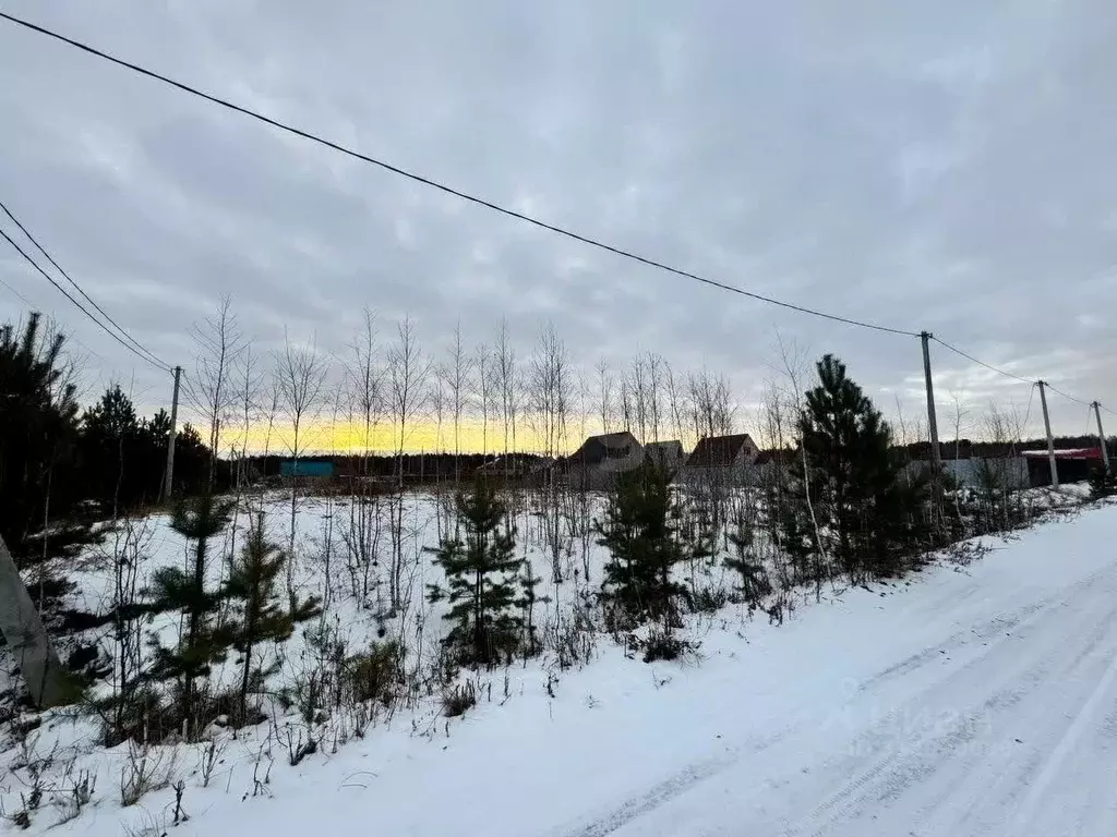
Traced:
POLYGON ((844 323, 846 325, 849 325, 849 326, 857 326, 859 328, 870 328, 870 329, 873 329, 873 330, 877 330, 877 331, 885 331, 885 333, 888 333, 888 334, 903 335, 905 337, 918 337, 919 336, 918 333, 916 333, 916 331, 909 331, 909 330, 906 330, 906 329, 903 329, 903 328, 891 328, 889 326, 881 326, 881 325, 876 324, 876 323, 868 323, 868 321, 865 321, 865 320, 851 319, 849 317, 841 317, 841 316, 836 315, 836 314, 827 314, 825 311, 820 311, 820 310, 814 309, 814 308, 806 308, 804 306, 794 305, 793 302, 784 302, 783 300, 775 299, 773 297, 766 297, 766 296, 764 296, 762 294, 756 294, 754 291, 745 290, 743 288, 737 288, 737 287, 735 287, 733 285, 726 285, 725 282, 719 282, 717 280, 699 276, 698 273, 690 272, 689 270, 684 270, 681 268, 671 267, 670 264, 667 264, 665 262, 657 261, 655 259, 651 259, 651 258, 648 258, 648 257, 645 257, 645 256, 640 256, 639 253, 632 252, 631 250, 626 250, 626 249, 623 249, 621 247, 614 247, 613 244, 608 244, 608 243, 605 243, 603 241, 600 241, 598 239, 591 238, 589 235, 584 235, 582 233, 574 232, 572 230, 565 229, 563 227, 557 227, 557 225, 548 223, 546 221, 542 221, 542 220, 540 220, 537 218, 534 218, 532 215, 525 214, 523 212, 517 212, 516 210, 508 209, 507 206, 503 206, 503 205, 500 205, 498 203, 495 203, 493 201, 486 200, 484 198, 478 198, 477 195, 469 194, 468 192, 462 192, 461 190, 455 189, 452 186, 448 186, 445 183, 440 183, 440 182, 438 182, 436 180, 432 180, 430 177, 423 176, 421 174, 416 174, 414 172, 408 171, 405 169, 401 169, 400 166, 392 165, 391 163, 388 163, 388 162, 385 162, 383 160, 378 160, 375 157, 369 156, 367 154, 363 154, 363 153, 361 153, 359 151, 350 148, 349 146, 342 145, 341 143, 334 142, 332 140, 326 140, 325 137, 319 136, 317 134, 314 134, 314 133, 312 133, 309 131, 304 131, 302 128, 294 127, 293 125, 289 125, 287 123, 279 122, 278 119, 274 119, 274 118, 271 118, 269 116, 265 116, 265 115, 262 115, 260 113, 257 113, 256 110, 251 110, 251 109, 249 109, 247 107, 244 107, 241 105, 233 104, 232 102, 229 102, 228 99, 223 99, 223 98, 220 98, 219 96, 216 96, 213 94, 206 93, 204 90, 199 89, 197 87, 192 87, 191 85, 184 84, 183 81, 176 81, 173 78, 169 78, 168 76, 163 76, 163 75, 161 75, 159 73, 155 73, 153 70, 150 70, 150 69, 146 69, 144 67, 141 67, 137 64, 132 64, 131 61, 126 61, 126 60, 124 60, 122 58, 117 58, 116 56, 109 55, 108 52, 104 52, 104 51, 102 51, 99 49, 96 49, 95 47, 90 47, 87 44, 83 44, 82 41, 74 40, 73 38, 68 38, 68 37, 64 36, 64 35, 59 35, 58 32, 51 31, 50 29, 47 29, 47 28, 41 27, 41 26, 38 26, 36 23, 31 23, 30 21, 27 21, 27 20, 22 20, 21 18, 17 18, 17 17, 15 17, 12 15, 8 15, 7 12, 0 11, 0 18, 3 18, 4 20, 8 20, 8 21, 10 21, 12 23, 21 26, 21 27, 23 27, 26 29, 30 29, 34 32, 38 32, 40 35, 45 35, 45 36, 47 36, 49 38, 52 38, 52 39, 55 39, 57 41, 60 41, 63 44, 67 44, 68 46, 75 47, 76 49, 80 49, 83 52, 86 52, 88 55, 92 55, 92 56, 95 56, 95 57, 101 58, 103 60, 106 60, 106 61, 109 61, 112 64, 115 64, 118 67, 124 67, 125 69, 130 69, 133 73, 139 73, 140 75, 146 76, 147 78, 154 79, 156 81, 161 81, 161 83, 163 83, 165 85, 170 85, 171 87, 175 87, 179 90, 182 90, 183 93, 189 93, 192 96, 197 96, 199 98, 206 99, 207 102, 210 102, 210 103, 212 103, 214 105, 219 105, 219 106, 225 107, 225 108, 227 108, 229 110, 233 110, 233 112, 236 112, 238 114, 241 114, 244 116, 248 116, 250 118, 254 118, 254 119, 257 119, 259 122, 262 122, 266 125, 270 125, 274 128, 278 128, 280 131, 285 131, 285 132, 289 133, 289 134, 294 134, 295 136, 302 137, 304 140, 309 140, 311 142, 317 143, 317 144, 323 145, 323 146, 325 146, 327 148, 332 148, 333 151, 336 151, 336 152, 340 152, 342 154, 345 154, 345 155, 347 155, 350 157, 353 157, 354 160, 359 160, 359 161, 361 161, 363 163, 369 163, 369 164, 378 166, 378 167, 380 167, 380 169, 382 169, 382 170, 384 170, 386 172, 391 172, 392 174, 397 174, 397 175, 399 175, 401 177, 405 177, 408 180, 411 180, 411 181, 413 181, 416 183, 421 183, 421 184, 423 184, 426 186, 430 186, 431 189, 437 189, 440 192, 454 195, 455 198, 459 198, 459 199, 461 199, 464 201, 468 201, 469 203, 474 203, 474 204, 476 204, 478 206, 484 206, 486 209, 493 210, 494 212, 498 212, 498 213, 500 213, 503 215, 506 215, 508 218, 516 219, 517 221, 523 221, 525 223, 532 224, 533 227, 537 227, 540 229, 547 230, 547 231, 556 233, 558 235, 564 235, 565 238, 572 239, 574 241, 580 241, 583 244, 589 244, 590 247, 598 248, 599 250, 604 250, 604 251, 613 253, 615 256, 620 256, 622 258, 631 259, 632 261, 640 262, 641 264, 647 264, 648 267, 657 268, 659 270, 663 270, 663 271, 666 271, 668 273, 674 273, 675 276, 679 276, 679 277, 682 277, 685 279, 691 279, 694 281, 701 282, 703 285, 708 285, 708 286, 710 286, 713 288, 719 288, 720 290, 727 290, 727 291, 729 291, 732 294, 739 294, 743 297, 748 297, 750 299, 755 299, 755 300, 761 301, 761 302, 767 302, 768 305, 779 306, 781 308, 786 308, 789 310, 799 311, 800 314, 809 314, 809 315, 811 315, 813 317, 820 317, 822 319, 829 319, 829 320, 832 320, 832 321, 836 321, 836 323, 844 323))

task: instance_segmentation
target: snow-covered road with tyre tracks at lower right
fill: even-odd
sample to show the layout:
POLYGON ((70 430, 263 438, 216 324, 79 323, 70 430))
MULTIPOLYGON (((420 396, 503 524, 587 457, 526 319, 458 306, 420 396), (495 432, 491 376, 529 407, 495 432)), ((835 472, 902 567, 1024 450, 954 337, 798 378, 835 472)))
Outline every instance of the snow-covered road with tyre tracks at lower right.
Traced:
POLYGON ((1114 535, 1094 512, 836 619, 801 662, 837 694, 772 684, 785 718, 748 723, 742 701, 752 737, 726 723, 722 753, 555 834, 1117 834, 1114 535))

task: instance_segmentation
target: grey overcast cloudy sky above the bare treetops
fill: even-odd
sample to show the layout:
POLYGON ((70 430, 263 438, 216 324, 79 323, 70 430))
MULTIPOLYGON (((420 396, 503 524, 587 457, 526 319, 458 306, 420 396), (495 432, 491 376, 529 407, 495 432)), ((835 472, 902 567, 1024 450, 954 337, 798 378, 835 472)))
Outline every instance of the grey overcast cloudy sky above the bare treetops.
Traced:
MULTIPOLYGON (((4 10, 458 189, 719 281, 928 329, 1117 410, 1117 11, 1102 0, 9 0, 4 10)), ((552 321, 588 371, 729 375, 776 334, 917 412, 918 340, 775 309, 462 203, 0 22, 0 200, 156 355, 222 294, 266 352, 362 306, 442 352, 552 321)), ((10 227, 6 227, 10 231, 10 227)), ((169 397, 0 249, 0 319, 169 397), (22 298, 21 298, 22 297, 22 298), (27 301, 25 301, 25 299, 27 301)), ((943 400, 1029 387, 934 352, 943 400)), ((1057 430, 1086 408, 1051 398, 1057 430)), ((944 406, 945 410, 945 406, 944 406)), ((1117 419, 1110 416, 1117 431, 1117 419)), ((1038 430, 1037 407, 1030 412, 1038 430)), ((945 421, 945 420, 944 420, 945 421)), ((746 417, 747 423, 747 417, 746 417)))

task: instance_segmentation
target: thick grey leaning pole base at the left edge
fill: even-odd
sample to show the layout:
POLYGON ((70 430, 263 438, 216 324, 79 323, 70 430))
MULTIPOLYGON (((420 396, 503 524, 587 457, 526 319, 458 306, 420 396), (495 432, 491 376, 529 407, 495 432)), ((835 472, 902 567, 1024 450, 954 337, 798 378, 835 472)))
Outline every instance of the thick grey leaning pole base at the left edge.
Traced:
POLYGON ((39 709, 65 703, 65 672, 3 538, 0 538, 0 633, 27 681, 31 702, 39 709))

